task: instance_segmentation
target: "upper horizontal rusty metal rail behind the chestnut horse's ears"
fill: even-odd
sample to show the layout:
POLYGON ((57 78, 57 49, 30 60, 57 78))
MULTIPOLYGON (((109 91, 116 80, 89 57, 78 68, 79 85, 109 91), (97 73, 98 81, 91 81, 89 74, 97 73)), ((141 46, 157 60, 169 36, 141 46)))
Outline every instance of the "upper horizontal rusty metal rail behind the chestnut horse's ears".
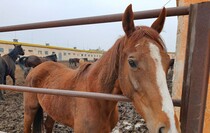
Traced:
MULTIPOLYGON (((158 17, 161 10, 162 9, 135 12, 134 13, 135 19, 147 19, 147 18, 158 17)), ((167 8, 167 16, 188 15, 188 14, 189 14, 189 7, 167 8)), ((4 26, 4 27, 0 27, 0 32, 30 30, 30 29, 40 29, 40 28, 53 28, 53 27, 74 26, 74 25, 86 25, 86 24, 96 24, 96 23, 108 23, 108 22, 117 22, 121 20, 122 20, 122 14, 120 13, 120 14, 113 14, 113 15, 4 26)))

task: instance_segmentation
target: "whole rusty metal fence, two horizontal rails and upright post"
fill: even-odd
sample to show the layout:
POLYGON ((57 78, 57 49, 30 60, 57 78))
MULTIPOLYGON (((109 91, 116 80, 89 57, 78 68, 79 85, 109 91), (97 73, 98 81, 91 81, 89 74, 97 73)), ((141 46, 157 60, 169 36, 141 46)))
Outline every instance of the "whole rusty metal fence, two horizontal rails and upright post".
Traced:
MULTIPOLYGON (((135 12, 135 19, 158 17, 161 9, 135 12)), ((167 8, 167 16, 189 15, 186 59, 182 87, 182 100, 173 100, 181 106, 180 121, 182 133, 202 133, 209 80, 210 62, 210 2, 198 3, 189 7, 167 8)), ((121 21, 122 14, 49 21, 31 24, 0 27, 0 32, 97 24, 121 21)), ((32 87, 0 85, 1 89, 65 95, 106 100, 130 101, 119 95, 47 90, 32 87)))

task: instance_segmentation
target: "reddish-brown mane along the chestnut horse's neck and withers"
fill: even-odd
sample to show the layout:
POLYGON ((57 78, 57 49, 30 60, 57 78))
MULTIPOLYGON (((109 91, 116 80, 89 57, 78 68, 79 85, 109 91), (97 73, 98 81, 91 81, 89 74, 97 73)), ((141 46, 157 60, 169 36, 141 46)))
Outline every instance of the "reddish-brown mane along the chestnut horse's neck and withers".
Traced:
MULTIPOLYGON (((118 76, 120 48, 121 44, 124 44, 122 42, 124 42, 123 37, 119 38, 112 48, 110 48, 97 62, 93 63, 97 67, 92 68, 97 70, 94 70, 94 74, 91 75, 98 76, 98 81, 102 85, 102 88, 106 88, 108 90, 114 88, 114 84, 118 76)), ((78 72, 75 77, 73 77, 73 80, 77 81, 80 77, 82 77, 91 64, 92 63, 89 62, 82 63, 79 68, 77 68, 78 72)))

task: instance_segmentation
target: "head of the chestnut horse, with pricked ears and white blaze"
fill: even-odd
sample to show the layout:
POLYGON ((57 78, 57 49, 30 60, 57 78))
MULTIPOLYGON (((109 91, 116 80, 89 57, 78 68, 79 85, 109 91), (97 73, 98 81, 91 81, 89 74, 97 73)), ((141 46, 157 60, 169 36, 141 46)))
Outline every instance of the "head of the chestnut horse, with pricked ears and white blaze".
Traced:
POLYGON ((152 133, 180 132, 166 83, 170 58, 159 35, 165 17, 163 8, 151 27, 135 27, 129 5, 122 18, 126 35, 120 53, 120 88, 132 100, 152 133))

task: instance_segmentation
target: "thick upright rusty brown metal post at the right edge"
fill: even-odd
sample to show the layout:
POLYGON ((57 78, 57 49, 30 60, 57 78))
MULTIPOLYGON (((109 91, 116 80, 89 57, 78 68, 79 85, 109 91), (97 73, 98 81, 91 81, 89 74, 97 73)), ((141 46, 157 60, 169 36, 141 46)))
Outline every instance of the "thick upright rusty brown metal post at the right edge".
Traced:
POLYGON ((182 91, 182 133, 203 132, 210 65, 209 31, 210 2, 191 5, 182 91))

